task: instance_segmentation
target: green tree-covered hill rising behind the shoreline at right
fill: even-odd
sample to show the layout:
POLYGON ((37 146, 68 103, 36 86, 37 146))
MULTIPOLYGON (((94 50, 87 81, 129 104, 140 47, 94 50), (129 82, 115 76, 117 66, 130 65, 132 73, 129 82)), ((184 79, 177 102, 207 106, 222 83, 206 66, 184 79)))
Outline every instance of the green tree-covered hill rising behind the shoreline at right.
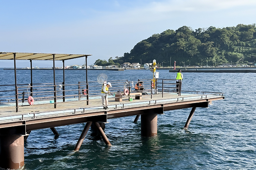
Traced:
POLYGON ((154 34, 146 40, 137 43, 130 53, 116 57, 111 61, 152 62, 156 59, 163 66, 170 66, 170 59, 177 65, 208 65, 226 62, 256 61, 256 27, 255 24, 239 24, 233 27, 192 30, 182 26, 176 31, 166 30, 154 34))

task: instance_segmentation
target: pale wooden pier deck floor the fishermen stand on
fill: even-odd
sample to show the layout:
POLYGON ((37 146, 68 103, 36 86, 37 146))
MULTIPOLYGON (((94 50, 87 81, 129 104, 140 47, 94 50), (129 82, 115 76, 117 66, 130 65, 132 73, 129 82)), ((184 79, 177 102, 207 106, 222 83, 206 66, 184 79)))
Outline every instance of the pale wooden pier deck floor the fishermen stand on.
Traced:
MULTIPOLYGON (((67 102, 61 102, 60 100, 57 101, 56 109, 54 109, 54 104, 50 103, 50 101, 36 101, 33 106, 29 106, 24 102, 23 106, 19 104, 18 112, 15 112, 15 103, 1 103, 0 127, 1 124, 3 127, 5 127, 4 124, 12 124, 14 122, 28 122, 39 118, 45 119, 53 117, 58 117, 57 119, 61 119, 62 116, 65 117, 74 114, 79 114, 79 117, 90 117, 108 114, 107 118, 115 118, 137 115, 140 114, 139 110, 154 109, 159 107, 162 110, 159 111, 161 113, 164 110, 195 107, 192 104, 203 102, 206 102, 207 106, 202 105, 196 107, 208 107, 208 103, 212 100, 224 99, 224 96, 218 93, 209 95, 181 93, 181 96, 178 96, 176 93, 164 93, 163 97, 162 94, 152 95, 152 99, 151 95, 142 95, 141 100, 134 99, 133 101, 129 101, 128 97, 123 97, 122 102, 115 101, 115 97, 109 96, 109 109, 105 110, 101 106, 101 98, 99 97, 95 99, 90 99, 89 97, 89 105, 86 105, 85 97, 80 101, 78 101, 78 98, 67 99, 67 102), (113 115, 110 115, 111 113, 113 113, 113 115)), ((66 117, 65 119, 69 118, 66 117)), ((86 122, 86 120, 84 121, 86 122)))

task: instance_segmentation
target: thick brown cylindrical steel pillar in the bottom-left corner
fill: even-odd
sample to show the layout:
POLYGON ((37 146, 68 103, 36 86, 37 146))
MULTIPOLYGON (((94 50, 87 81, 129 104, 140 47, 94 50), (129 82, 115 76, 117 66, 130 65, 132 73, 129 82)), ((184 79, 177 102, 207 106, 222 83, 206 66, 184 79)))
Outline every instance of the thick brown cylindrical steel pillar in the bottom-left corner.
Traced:
POLYGON ((0 136, 0 167, 18 169, 24 165, 24 137, 20 135, 0 136))

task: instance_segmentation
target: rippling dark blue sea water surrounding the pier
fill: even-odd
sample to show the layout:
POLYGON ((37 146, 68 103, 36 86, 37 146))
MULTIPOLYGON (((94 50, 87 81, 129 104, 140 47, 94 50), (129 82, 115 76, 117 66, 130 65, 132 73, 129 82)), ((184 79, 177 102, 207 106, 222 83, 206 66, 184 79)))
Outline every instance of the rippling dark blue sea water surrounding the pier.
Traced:
MULTIPOLYGON (((175 73, 158 70, 159 78, 175 73)), ((106 73, 108 80, 152 78, 147 70, 88 71, 88 79, 106 73)), ((85 126, 76 124, 34 130, 25 142, 25 170, 252 170, 256 169, 256 73, 183 73, 182 90, 223 92, 225 100, 197 108, 188 130, 190 109, 158 115, 158 134, 140 136, 135 116, 109 119, 105 134, 113 146, 89 130, 78 152, 75 144, 85 126)), ((62 82, 56 71, 56 82, 62 82)), ((65 71, 66 84, 85 81, 85 71, 65 71)), ((17 71, 18 84, 30 83, 30 71, 17 71)), ((53 82, 53 71, 33 71, 33 83, 53 82)), ((14 84, 14 71, 0 69, 0 84, 14 84)))

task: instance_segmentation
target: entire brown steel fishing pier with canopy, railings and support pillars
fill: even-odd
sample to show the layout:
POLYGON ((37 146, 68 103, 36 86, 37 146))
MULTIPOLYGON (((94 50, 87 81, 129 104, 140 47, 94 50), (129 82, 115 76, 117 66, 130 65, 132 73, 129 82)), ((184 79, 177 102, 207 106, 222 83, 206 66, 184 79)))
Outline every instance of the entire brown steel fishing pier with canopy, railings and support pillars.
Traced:
MULTIPOLYGON (((75 54, 43 54, 43 53, 7 53, 0 52, 0 59, 14 61, 14 84, 0 85, 0 167, 18 169, 24 165, 24 140, 29 140, 33 130, 51 128, 54 135, 59 135, 55 127, 71 124, 86 123, 81 136, 77 137, 74 150, 79 150, 83 144, 90 126, 95 126, 105 144, 111 146, 108 134, 103 129, 108 119, 134 116, 134 122, 140 117, 141 136, 150 137, 157 134, 158 115, 167 110, 191 108, 190 113, 184 113, 187 119, 184 128, 189 123, 196 108, 208 108, 212 101, 224 99, 219 92, 182 91, 177 88, 181 82, 174 79, 156 78, 143 80, 110 80, 112 87, 109 95, 109 109, 103 109, 100 91, 102 84, 98 81, 86 80, 65 83, 65 70, 63 69, 63 82, 55 82, 55 60, 64 61, 90 55, 75 54), (27 84, 18 84, 16 78, 16 59, 52 60, 53 83, 33 83, 32 69, 31 81, 27 84), (143 90, 135 91, 134 84, 143 81, 143 90), (128 90, 119 91, 120 89, 128 90), (127 94, 127 95, 125 95, 127 94), (135 95, 133 95, 135 94, 135 95), (28 103, 28 97, 34 99, 33 105, 28 103)), ((174 115, 170 115, 174 116, 174 115)), ((159 116, 161 117, 161 116, 159 116)), ((139 134, 138 134, 139 135, 139 134)))

